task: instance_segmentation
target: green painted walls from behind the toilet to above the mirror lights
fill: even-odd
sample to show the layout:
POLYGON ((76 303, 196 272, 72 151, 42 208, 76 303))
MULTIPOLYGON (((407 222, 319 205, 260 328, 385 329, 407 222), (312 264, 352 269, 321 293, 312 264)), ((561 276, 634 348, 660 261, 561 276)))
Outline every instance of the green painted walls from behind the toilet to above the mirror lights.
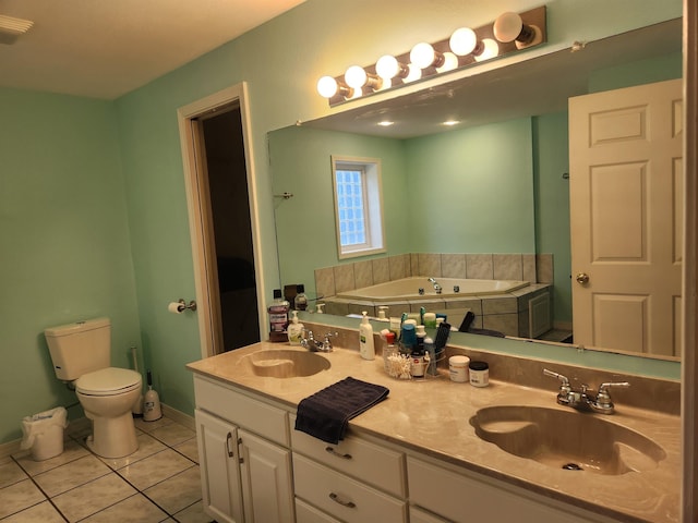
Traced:
MULTIPOLYGON (((538 5, 476 0, 466 10, 462 0, 309 0, 118 100, 0 89, 0 398, 7 405, 0 441, 20 437, 22 416, 75 401, 55 379, 41 332, 88 316, 112 319, 115 364, 128 366, 128 348, 137 344, 163 402, 193 413, 183 367, 201 357, 198 318, 167 313, 168 302, 195 297, 179 107, 248 83, 250 161, 270 299, 280 280, 266 133, 330 112, 315 94, 324 74, 405 52, 416 38, 435 41, 459 25, 538 5)), ((549 44, 524 58, 682 14, 681 0, 609 5, 549 2, 549 44)))

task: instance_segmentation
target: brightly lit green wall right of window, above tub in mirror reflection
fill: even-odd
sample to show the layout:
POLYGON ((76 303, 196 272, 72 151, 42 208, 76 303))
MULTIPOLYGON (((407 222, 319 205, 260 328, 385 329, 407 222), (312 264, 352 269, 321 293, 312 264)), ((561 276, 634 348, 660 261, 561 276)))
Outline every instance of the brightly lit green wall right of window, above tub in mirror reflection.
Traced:
POLYGON ((530 119, 405 145, 411 252, 535 252, 530 119))

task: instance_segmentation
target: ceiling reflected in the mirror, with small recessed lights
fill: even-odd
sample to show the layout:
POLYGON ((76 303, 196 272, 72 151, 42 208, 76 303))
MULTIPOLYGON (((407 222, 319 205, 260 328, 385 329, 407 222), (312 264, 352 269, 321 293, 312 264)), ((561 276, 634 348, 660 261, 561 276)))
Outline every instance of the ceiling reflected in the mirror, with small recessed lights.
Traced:
POLYGON ((341 112, 302 125, 410 138, 449 131, 447 120, 474 126, 564 111, 569 97, 588 93, 594 71, 681 51, 682 20, 671 20, 380 104, 351 109, 349 100, 341 112), (385 120, 394 124, 380 126, 385 120))

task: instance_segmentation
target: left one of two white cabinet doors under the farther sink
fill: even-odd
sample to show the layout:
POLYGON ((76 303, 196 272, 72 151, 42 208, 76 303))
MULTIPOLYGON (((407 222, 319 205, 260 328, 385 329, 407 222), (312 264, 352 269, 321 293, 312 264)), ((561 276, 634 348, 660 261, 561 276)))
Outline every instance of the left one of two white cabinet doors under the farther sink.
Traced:
POLYGON ((219 523, 242 523, 238 428, 198 409, 195 419, 204 510, 219 523))

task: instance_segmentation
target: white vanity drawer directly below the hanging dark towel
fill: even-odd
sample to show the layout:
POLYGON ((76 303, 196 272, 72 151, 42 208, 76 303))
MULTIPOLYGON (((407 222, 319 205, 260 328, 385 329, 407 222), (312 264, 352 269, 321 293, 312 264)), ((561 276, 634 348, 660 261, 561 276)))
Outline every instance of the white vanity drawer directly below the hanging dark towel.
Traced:
POLYGON ((326 443, 296 430, 296 416, 289 415, 291 447, 315 461, 369 483, 398 498, 407 496, 405 454, 348 436, 339 445, 326 443))

